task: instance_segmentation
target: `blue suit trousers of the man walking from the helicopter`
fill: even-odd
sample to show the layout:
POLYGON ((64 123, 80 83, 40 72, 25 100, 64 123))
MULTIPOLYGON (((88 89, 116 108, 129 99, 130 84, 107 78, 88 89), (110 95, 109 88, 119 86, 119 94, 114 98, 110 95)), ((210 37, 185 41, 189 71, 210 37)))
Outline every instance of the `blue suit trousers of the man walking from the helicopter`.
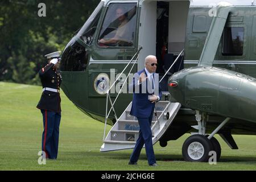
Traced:
POLYGON ((145 144, 148 164, 151 165, 156 163, 153 144, 152 144, 152 132, 151 132, 151 122, 152 122, 153 113, 154 113, 154 108, 152 109, 150 117, 138 118, 139 127, 140 127, 139 137, 135 144, 133 153, 130 156, 130 162, 138 161, 139 155, 141 154, 142 147, 145 144))

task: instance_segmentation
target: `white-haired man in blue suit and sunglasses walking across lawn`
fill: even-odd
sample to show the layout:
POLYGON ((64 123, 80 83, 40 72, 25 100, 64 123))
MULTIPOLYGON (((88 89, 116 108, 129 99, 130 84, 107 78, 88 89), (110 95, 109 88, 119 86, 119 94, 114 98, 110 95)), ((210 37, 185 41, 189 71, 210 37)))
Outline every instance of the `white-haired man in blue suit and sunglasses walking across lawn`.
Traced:
POLYGON ((155 56, 147 56, 145 68, 137 72, 133 78, 133 105, 130 114, 138 118, 140 130, 133 153, 130 156, 130 165, 137 164, 141 149, 145 144, 148 164, 158 166, 155 160, 151 132, 155 102, 159 101, 162 96, 158 74, 155 73, 157 65, 155 56))

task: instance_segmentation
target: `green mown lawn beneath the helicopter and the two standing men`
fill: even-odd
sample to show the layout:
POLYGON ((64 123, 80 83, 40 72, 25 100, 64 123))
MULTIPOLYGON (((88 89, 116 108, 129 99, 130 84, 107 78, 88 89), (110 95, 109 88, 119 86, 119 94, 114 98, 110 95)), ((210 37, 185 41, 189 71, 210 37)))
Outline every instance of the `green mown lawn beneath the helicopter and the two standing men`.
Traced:
MULTIPOLYGON (((239 150, 222 147, 216 165, 184 162, 181 147, 189 134, 167 147, 154 146, 159 167, 148 167, 144 149, 137 166, 128 166, 132 150, 100 152, 104 123, 83 114, 61 92, 62 118, 57 160, 38 164, 43 132, 42 114, 36 109, 40 86, 0 82, 0 170, 255 170, 256 137, 234 135, 239 150)), ((107 127, 110 130, 110 126, 107 127)))

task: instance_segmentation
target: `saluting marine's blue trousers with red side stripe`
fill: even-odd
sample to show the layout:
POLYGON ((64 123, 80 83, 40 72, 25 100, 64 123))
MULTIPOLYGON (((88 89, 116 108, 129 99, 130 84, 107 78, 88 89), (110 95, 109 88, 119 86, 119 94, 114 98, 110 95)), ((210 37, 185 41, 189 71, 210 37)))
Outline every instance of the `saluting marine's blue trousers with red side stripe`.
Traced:
POLYGON ((44 123, 42 151, 46 152, 46 158, 57 159, 61 114, 43 109, 41 113, 44 123))

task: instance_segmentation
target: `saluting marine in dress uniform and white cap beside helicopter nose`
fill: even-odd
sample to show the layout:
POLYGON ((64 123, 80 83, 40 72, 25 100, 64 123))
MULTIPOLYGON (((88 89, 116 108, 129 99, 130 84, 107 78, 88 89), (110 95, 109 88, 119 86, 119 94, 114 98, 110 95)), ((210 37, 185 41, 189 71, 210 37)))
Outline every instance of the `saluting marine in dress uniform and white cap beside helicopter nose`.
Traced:
POLYGON ((46 158, 57 159, 61 119, 60 84, 62 78, 58 69, 60 51, 45 56, 48 64, 39 71, 43 93, 36 107, 43 115, 42 151, 46 152, 46 158))

